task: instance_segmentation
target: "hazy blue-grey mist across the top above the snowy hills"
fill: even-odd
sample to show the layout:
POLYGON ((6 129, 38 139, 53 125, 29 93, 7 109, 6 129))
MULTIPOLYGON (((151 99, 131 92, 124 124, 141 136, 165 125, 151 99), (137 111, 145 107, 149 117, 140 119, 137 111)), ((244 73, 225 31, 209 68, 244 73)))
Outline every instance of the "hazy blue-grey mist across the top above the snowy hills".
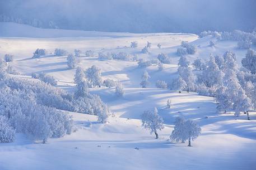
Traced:
POLYGON ((252 31, 255 0, 0 0, 0 14, 115 32, 252 31))

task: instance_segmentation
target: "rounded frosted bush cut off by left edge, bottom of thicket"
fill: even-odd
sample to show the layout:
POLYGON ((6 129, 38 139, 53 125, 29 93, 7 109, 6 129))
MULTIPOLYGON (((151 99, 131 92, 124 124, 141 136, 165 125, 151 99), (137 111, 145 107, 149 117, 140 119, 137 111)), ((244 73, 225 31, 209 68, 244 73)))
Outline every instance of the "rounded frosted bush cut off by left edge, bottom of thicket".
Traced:
POLYGON ((6 116, 0 115, 0 143, 13 142, 15 130, 10 125, 10 120, 6 116))

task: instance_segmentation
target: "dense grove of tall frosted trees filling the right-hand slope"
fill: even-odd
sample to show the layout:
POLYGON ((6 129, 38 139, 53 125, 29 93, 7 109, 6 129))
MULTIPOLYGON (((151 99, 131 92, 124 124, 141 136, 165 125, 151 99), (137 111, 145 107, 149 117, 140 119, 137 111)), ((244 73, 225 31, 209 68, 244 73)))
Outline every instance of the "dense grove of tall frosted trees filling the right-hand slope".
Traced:
POLYGON ((187 57, 179 60, 179 76, 173 81, 172 89, 197 91, 201 95, 213 96, 220 111, 234 111, 235 116, 256 108, 256 53, 249 49, 242 60, 240 69, 236 55, 230 51, 223 56, 210 55, 208 60, 196 59, 193 66, 195 75, 187 57))

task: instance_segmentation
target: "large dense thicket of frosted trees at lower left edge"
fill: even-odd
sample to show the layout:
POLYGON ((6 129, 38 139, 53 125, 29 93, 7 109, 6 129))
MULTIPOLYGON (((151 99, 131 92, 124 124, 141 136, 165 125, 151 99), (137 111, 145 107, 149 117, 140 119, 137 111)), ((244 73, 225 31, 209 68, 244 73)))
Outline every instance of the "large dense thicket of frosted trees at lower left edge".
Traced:
POLYGON ((64 96, 53 86, 5 72, 1 72, 0 81, 0 142, 13 142, 15 133, 24 133, 45 143, 48 138, 73 132, 73 120, 55 108, 64 109, 65 104, 64 96))

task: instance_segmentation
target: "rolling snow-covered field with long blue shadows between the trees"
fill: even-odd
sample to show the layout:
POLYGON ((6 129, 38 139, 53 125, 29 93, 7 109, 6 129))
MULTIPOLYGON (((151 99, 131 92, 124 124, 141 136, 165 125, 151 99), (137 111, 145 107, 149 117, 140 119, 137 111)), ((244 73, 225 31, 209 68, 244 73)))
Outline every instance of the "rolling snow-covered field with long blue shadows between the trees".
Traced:
MULTIPOLYGON (((97 57, 80 58, 79 66, 87 69, 96 65, 102 71, 103 79, 120 80, 124 86, 123 98, 115 96, 115 88, 90 89, 100 95, 110 106, 113 116, 106 124, 96 122, 94 115, 70 113, 77 125, 77 132, 63 138, 49 139, 41 144, 17 134, 13 143, 0 143, 1 170, 32 169, 256 169, 256 113, 252 120, 246 115, 236 118, 234 114, 220 114, 213 98, 196 93, 176 93, 166 89, 156 89, 156 80, 169 82, 176 77, 179 56, 176 48, 181 41, 189 41, 198 47, 193 61, 207 59, 210 54, 222 55, 231 50, 236 53, 238 63, 246 50, 236 47, 236 41, 217 41, 215 47, 208 46, 213 37, 198 39, 187 33, 108 33, 72 30, 43 30, 15 23, 0 23, 0 56, 14 55, 10 62, 19 77, 31 79, 33 72, 45 72, 58 80, 58 87, 73 91, 75 69, 68 69, 67 56, 49 55, 31 59, 36 48, 45 48, 53 53, 55 48, 63 48, 73 53, 79 49, 97 52, 127 52, 139 58, 154 59, 158 54, 167 54, 172 62, 157 66, 138 68, 137 62, 122 60, 99 61, 97 57), (18 30, 18 31, 17 31, 18 30), (132 41, 137 48, 130 48, 132 41), (152 43, 149 54, 141 49, 147 41, 152 43), (161 44, 161 49, 157 44, 161 44), (151 76, 150 86, 141 88, 139 82, 143 71, 151 76), (172 106, 166 109, 166 101, 172 106), (140 115, 144 110, 157 107, 164 119, 165 129, 155 139, 141 128, 140 115), (168 139, 173 130, 176 116, 197 120, 202 134, 194 141, 193 147, 187 143, 171 143, 168 139), (138 148, 138 149, 134 149, 138 148)), ((253 47, 255 49, 255 47, 253 47)))

